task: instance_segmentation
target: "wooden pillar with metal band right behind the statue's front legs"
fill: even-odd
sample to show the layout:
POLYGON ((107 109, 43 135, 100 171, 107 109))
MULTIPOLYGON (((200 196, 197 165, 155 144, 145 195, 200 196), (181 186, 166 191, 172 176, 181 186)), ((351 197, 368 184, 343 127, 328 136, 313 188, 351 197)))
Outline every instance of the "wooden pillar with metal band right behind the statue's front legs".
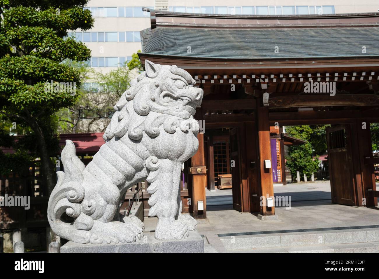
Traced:
POLYGON ((193 218, 207 218, 207 205, 205 198, 205 187, 207 186, 207 172, 205 168, 204 156, 204 134, 197 134, 199 149, 191 158, 191 168, 188 171, 191 184, 188 185, 188 195, 192 198, 190 210, 192 209, 193 218), (200 172, 198 172, 200 170, 200 172), (191 189, 189 189, 191 188, 191 189), (203 202, 203 210, 198 210, 198 202, 203 202))

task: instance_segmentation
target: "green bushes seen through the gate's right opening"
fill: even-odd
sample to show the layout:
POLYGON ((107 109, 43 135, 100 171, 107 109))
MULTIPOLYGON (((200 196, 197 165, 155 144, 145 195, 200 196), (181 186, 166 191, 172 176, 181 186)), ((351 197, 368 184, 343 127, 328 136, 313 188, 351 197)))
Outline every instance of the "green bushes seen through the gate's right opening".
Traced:
MULTIPOLYGON (((292 177, 296 177, 296 171, 308 176, 318 170, 318 160, 313 156, 326 154, 326 128, 329 125, 301 125, 286 126, 286 132, 298 139, 307 140, 303 145, 292 145, 288 148, 287 167, 291 170, 292 177)), ((302 177, 302 175, 301 175, 302 177)))

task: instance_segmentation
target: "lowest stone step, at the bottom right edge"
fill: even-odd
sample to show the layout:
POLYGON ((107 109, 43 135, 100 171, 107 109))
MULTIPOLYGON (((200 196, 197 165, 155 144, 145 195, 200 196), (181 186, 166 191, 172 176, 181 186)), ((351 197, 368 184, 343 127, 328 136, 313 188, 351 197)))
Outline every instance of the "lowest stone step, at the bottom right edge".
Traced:
POLYGON ((229 250, 229 253, 378 253, 379 241, 365 243, 344 243, 318 246, 291 246, 229 250))

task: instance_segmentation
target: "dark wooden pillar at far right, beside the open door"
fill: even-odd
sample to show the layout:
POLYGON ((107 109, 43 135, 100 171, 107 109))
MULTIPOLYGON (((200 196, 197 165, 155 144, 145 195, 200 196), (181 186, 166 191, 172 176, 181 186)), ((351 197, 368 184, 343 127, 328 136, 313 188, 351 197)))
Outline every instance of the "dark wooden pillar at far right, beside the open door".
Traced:
MULTIPOLYGON (((359 162, 362 178, 362 194, 360 197, 366 199, 366 206, 376 206, 377 199, 368 194, 369 189, 376 191, 375 172, 373 164, 365 164, 365 158, 372 158, 370 123, 364 119, 357 119, 357 137, 359 149, 359 162)), ((358 163, 358 162, 357 162, 358 163)), ((358 205, 362 206, 362 199, 358 200, 358 205)))

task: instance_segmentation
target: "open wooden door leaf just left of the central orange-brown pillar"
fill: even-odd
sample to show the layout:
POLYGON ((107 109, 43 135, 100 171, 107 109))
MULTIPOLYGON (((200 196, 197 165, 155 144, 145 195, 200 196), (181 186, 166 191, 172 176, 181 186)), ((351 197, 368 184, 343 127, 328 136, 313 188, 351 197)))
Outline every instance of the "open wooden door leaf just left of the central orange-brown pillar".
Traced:
POLYGON ((231 156, 231 172, 232 172, 232 194, 233 208, 241 211, 241 155, 240 155, 240 135, 238 128, 230 129, 230 156, 231 156), (232 165, 233 164, 233 165, 232 165))

